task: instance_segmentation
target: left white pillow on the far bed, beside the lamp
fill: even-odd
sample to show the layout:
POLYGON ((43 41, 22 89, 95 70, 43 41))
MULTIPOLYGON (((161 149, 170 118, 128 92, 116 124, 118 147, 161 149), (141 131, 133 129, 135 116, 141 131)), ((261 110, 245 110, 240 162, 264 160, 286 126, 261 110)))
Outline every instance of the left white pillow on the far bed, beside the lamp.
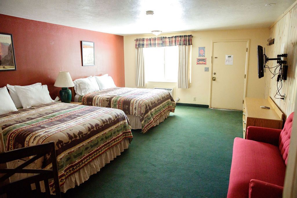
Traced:
POLYGON ((95 77, 87 77, 87 78, 80 78, 73 83, 76 84, 76 91, 75 93, 83 96, 89 94, 94 91, 100 91, 99 85, 95 79, 95 77))

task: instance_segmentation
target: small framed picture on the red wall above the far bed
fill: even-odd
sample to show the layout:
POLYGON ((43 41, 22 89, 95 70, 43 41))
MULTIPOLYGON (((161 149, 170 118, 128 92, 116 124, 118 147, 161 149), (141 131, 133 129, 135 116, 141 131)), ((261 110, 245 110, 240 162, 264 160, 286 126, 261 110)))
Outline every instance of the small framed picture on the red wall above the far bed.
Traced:
POLYGON ((94 42, 81 41, 81 53, 83 57, 83 66, 95 65, 94 42))

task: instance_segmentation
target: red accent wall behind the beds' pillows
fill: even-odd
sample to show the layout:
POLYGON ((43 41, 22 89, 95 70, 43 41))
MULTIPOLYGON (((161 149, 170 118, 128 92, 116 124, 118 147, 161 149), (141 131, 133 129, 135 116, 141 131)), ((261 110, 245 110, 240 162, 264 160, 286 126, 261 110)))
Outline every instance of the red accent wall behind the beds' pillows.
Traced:
POLYGON ((0 87, 40 82, 55 99, 60 71, 72 80, 108 73, 118 87, 125 86, 123 36, 1 14, 0 32, 12 34, 17 66, 17 71, 0 72, 0 87), (95 66, 82 66, 82 40, 94 42, 95 66))

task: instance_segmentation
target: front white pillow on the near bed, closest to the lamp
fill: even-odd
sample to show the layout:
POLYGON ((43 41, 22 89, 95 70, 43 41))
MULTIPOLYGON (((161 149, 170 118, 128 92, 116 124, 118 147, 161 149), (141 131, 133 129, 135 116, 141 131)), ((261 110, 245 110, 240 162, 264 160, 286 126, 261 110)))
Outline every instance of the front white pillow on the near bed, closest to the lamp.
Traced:
POLYGON ((24 109, 53 102, 50 98, 47 85, 15 86, 15 91, 24 109))

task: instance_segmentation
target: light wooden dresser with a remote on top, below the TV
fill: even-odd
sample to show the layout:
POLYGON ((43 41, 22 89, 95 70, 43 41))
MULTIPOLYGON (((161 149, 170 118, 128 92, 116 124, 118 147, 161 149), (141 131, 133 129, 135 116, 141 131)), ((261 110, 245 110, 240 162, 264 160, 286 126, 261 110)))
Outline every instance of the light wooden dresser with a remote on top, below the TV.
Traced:
POLYGON ((248 126, 260 126, 272 129, 282 129, 284 114, 274 104, 272 99, 245 98, 243 104, 243 137, 246 139, 248 126), (263 109, 260 106, 270 107, 263 109))

